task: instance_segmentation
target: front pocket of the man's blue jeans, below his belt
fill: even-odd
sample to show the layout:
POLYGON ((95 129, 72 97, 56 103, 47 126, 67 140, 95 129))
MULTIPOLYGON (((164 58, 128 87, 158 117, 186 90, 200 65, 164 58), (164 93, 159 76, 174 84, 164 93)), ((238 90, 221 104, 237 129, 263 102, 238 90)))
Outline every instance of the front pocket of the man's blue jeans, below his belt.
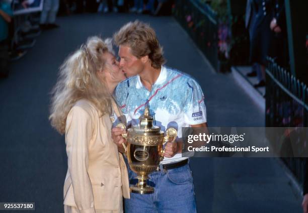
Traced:
POLYGON ((192 181, 189 165, 167 170, 168 179, 175 184, 184 184, 192 181))

